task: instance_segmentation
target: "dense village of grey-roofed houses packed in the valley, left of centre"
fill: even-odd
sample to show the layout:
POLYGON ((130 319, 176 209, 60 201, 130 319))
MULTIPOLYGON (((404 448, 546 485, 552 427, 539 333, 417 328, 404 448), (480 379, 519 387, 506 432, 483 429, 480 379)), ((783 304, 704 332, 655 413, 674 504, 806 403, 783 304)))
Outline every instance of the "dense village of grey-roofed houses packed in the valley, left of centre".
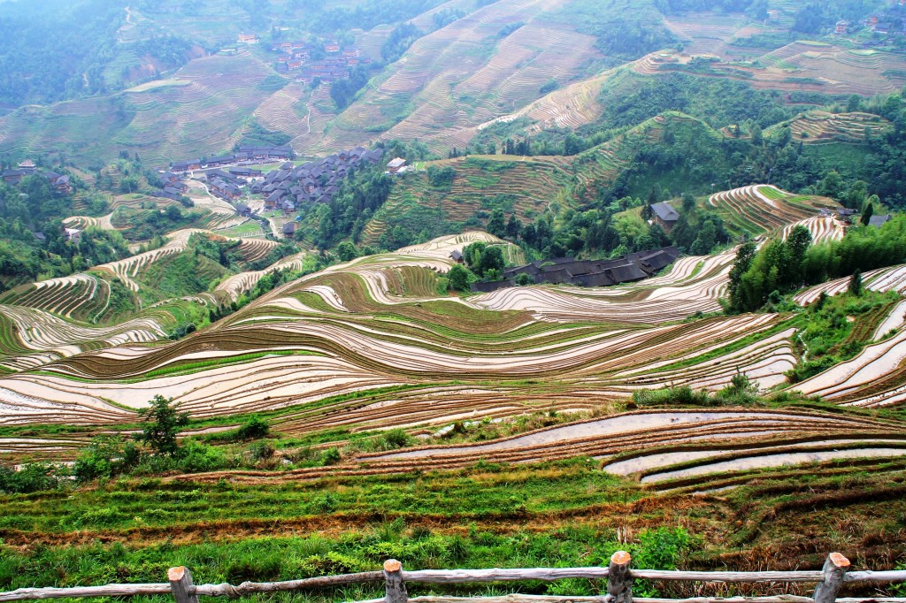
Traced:
POLYGON ((293 212, 296 206, 305 203, 331 203, 350 170, 365 163, 377 163, 382 155, 381 149, 356 147, 301 166, 285 163, 269 172, 264 180, 254 182, 249 190, 265 196, 265 208, 284 212, 293 212))

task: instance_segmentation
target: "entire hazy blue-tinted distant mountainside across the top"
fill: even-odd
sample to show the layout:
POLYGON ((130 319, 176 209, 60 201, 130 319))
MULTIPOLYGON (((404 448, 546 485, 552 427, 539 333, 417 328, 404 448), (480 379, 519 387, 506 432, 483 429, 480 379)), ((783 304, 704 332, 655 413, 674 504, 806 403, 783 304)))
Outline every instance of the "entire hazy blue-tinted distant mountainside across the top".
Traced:
MULTIPOLYGON (((229 56, 212 48, 236 45, 246 28, 260 31, 262 23, 281 19, 303 20, 287 28, 287 35, 320 36, 318 28, 333 26, 337 18, 333 8, 281 12, 267 3, 256 13, 220 0, 199 4, 191 14, 175 5, 130 7, 129 21, 117 34, 118 48, 153 45, 164 34, 188 41, 183 66, 161 68, 121 86, 123 91, 28 105, 0 116, 0 153, 64 153, 82 165, 97 165, 126 148, 163 165, 216 155, 264 131, 292 141, 305 156, 389 139, 419 139, 443 156, 495 126, 515 124, 516 133, 535 134, 591 124, 606 111, 612 76, 627 71, 644 78, 687 73, 737 81, 783 91, 787 103, 814 104, 814 95, 871 96, 906 84, 902 56, 888 45, 860 48, 827 36, 791 43, 789 7, 779 9, 777 21, 761 23, 741 13, 661 14, 647 2, 628 10, 621 0, 593 8, 586 0, 499 0, 477 8, 414 3, 400 5, 383 23, 380 11, 381 16, 365 11, 354 17, 349 39, 372 65, 371 80, 348 107, 338 108, 330 84, 312 90, 292 74, 275 73, 275 54, 265 43, 243 45, 229 56), (457 18, 436 28, 439 14, 457 18), (641 38, 610 37, 627 15, 641 38), (417 39, 384 65, 381 49, 390 40, 390 25, 406 17, 414 17, 417 39), (211 55, 191 50, 202 46, 211 55)), ((140 59, 117 59, 108 71, 128 71, 127 63, 140 59)))

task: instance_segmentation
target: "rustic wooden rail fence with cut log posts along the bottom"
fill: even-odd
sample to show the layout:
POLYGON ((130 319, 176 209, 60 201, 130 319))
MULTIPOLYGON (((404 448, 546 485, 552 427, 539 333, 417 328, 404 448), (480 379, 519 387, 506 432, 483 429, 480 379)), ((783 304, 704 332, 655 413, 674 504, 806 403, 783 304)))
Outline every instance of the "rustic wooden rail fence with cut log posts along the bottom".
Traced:
POLYGON ((136 595, 172 595, 175 603, 198 603, 198 597, 242 597, 255 593, 289 590, 310 590, 348 586, 366 582, 383 582, 385 596, 357 603, 906 603, 906 598, 837 598, 844 584, 906 582, 906 570, 850 571, 850 562, 840 553, 831 553, 823 570, 815 571, 679 571, 633 570, 630 554, 624 550, 613 553, 606 568, 533 568, 526 570, 419 570, 403 571, 398 560, 384 562, 383 571, 365 571, 342 576, 323 576, 284 582, 243 582, 231 584, 202 584, 192 581, 188 568, 170 568, 168 582, 159 584, 108 584, 99 587, 72 589, 18 589, 0 592, 0 602, 25 601, 43 598, 133 597, 136 595), (512 594, 503 597, 413 597, 406 583, 473 584, 478 582, 512 582, 518 580, 558 580, 564 578, 607 579, 607 594, 598 597, 554 597, 546 595, 512 594), (633 598, 633 579, 667 581, 698 581, 725 583, 815 583, 813 597, 776 595, 772 597, 697 597, 697 598, 633 598))

